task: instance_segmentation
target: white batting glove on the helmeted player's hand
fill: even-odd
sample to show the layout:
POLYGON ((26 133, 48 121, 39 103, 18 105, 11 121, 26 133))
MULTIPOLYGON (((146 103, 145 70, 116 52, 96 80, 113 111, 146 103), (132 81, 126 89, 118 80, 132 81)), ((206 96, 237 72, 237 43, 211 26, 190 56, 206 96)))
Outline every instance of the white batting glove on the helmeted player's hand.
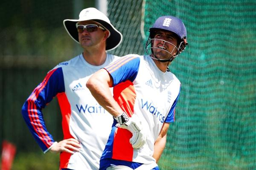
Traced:
POLYGON ((129 118, 128 122, 120 125, 119 123, 116 124, 116 127, 120 127, 122 129, 127 129, 132 133, 132 137, 130 139, 130 143, 133 148, 137 149, 142 147, 143 144, 146 142, 146 134, 143 133, 143 126, 142 123, 137 115, 132 115, 129 118))

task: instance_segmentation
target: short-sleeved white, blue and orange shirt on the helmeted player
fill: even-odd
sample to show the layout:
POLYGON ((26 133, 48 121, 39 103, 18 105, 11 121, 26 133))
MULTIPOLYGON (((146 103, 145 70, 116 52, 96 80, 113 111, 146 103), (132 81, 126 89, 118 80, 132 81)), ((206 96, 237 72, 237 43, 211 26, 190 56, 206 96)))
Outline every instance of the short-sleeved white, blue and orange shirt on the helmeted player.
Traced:
POLYGON ((180 81, 169 70, 160 71, 149 56, 130 54, 105 67, 113 78, 113 96, 128 116, 142 121, 147 140, 134 149, 132 134, 115 123, 101 159, 117 159, 143 164, 154 163, 154 143, 164 122, 174 122, 180 81))

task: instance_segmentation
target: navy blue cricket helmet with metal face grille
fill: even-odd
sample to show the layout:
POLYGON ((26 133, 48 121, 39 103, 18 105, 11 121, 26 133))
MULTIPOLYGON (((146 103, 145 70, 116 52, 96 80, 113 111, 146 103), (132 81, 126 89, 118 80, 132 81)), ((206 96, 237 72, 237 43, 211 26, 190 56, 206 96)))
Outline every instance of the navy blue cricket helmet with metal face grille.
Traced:
POLYGON ((172 60, 177 55, 182 53, 182 51, 186 48, 187 44, 188 42, 186 41, 186 27, 184 26, 183 22, 177 17, 162 16, 155 21, 154 25, 151 28, 149 28, 149 37, 146 42, 145 51, 148 55, 151 56, 151 58, 157 59, 160 62, 172 62, 172 60), (155 40, 160 40, 154 38, 155 32, 157 30, 170 31, 176 35, 177 46, 173 45, 168 41, 161 40, 162 42, 164 42, 164 45, 169 43, 170 45, 174 46, 172 51, 165 50, 164 45, 161 48, 154 46, 155 40), (162 52, 160 52, 162 53, 161 56, 155 53, 156 51, 160 50, 162 50, 162 52))

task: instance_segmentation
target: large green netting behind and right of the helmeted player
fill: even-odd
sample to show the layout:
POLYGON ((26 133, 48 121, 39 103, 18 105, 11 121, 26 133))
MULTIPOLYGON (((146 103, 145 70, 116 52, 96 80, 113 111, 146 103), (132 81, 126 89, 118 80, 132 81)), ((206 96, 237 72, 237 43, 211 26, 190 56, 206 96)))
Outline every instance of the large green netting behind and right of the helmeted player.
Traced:
POLYGON ((161 169, 256 169, 255 9, 254 0, 145 1, 146 33, 173 15, 189 42, 170 66, 182 90, 161 169))

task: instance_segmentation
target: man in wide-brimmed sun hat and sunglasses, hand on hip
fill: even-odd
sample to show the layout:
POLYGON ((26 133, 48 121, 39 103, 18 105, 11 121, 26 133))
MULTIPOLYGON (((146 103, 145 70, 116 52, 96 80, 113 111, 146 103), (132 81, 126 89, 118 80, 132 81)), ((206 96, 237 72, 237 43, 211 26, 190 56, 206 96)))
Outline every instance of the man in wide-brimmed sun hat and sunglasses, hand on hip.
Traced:
POLYGON ((89 77, 119 57, 106 53, 122 41, 122 34, 96 8, 83 9, 78 20, 64 20, 70 37, 83 52, 50 70, 22 107, 22 115, 44 153, 60 153, 61 170, 98 170, 111 132, 112 116, 86 88, 89 77), (42 108, 57 97, 64 139, 48 132, 42 108))

